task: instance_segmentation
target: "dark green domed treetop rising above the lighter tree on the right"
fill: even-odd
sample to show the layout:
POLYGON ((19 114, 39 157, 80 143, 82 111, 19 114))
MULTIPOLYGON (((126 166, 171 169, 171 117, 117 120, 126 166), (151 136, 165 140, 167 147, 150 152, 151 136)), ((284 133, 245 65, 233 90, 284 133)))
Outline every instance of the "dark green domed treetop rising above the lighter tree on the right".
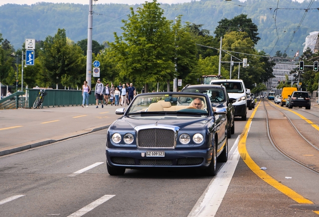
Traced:
POLYGON ((219 25, 214 31, 216 34, 215 37, 217 38, 223 37, 225 34, 233 31, 240 31, 247 33, 254 44, 257 44, 257 42, 260 40, 260 38, 257 36, 257 25, 254 24, 250 18, 247 18, 247 15, 240 14, 231 20, 224 18, 219 21, 218 24, 219 25))

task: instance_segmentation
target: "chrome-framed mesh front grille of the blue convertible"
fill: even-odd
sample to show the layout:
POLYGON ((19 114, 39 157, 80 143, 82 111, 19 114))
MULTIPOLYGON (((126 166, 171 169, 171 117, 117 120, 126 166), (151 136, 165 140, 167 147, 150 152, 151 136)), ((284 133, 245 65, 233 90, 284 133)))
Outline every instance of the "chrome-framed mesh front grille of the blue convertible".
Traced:
POLYGON ((162 128, 141 129, 137 133, 138 148, 175 148, 175 131, 162 128))

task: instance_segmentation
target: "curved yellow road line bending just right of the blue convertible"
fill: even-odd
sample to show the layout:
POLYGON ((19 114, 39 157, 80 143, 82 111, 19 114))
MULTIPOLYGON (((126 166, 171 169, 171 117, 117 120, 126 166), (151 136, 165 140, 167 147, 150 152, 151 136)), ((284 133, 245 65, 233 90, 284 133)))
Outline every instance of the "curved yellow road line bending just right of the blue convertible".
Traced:
MULTIPOLYGON (((238 144, 238 151, 239 151, 241 158, 247 164, 247 166, 257 176, 259 176, 259 178, 261 178, 263 181, 267 182, 268 184, 270 184, 271 186, 273 186, 274 188, 276 188, 277 190, 279 190, 283 194, 287 195, 288 197, 290 197, 291 199, 293 199, 294 201, 296 201, 298 203, 313 204, 313 202, 311 200, 304 198, 303 196, 301 196, 300 194, 298 194, 294 190, 290 189, 289 187, 278 182, 276 179, 272 178, 264 170, 261 170, 260 167, 249 156, 247 149, 246 149, 246 139, 248 136, 248 130, 250 128, 252 119, 254 118, 255 113, 256 113, 259 105, 260 105, 260 102, 258 103, 258 105, 256 106, 256 109, 254 110, 254 112, 252 113, 250 118, 248 119, 247 124, 245 125, 245 128, 244 128, 244 131, 241 134, 241 138, 240 138, 239 144, 238 144)), ((319 211, 318 212, 314 211, 314 212, 319 213, 319 211)))

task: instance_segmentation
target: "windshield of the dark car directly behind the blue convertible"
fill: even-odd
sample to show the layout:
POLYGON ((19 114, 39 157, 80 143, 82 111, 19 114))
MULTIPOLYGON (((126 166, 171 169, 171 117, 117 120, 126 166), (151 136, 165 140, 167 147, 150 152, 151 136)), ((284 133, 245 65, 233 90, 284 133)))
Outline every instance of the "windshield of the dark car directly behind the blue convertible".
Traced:
POLYGON ((225 92, 221 88, 215 87, 202 87, 202 88, 186 88, 183 92, 197 92, 204 93, 209 96, 211 102, 223 103, 226 100, 225 92))

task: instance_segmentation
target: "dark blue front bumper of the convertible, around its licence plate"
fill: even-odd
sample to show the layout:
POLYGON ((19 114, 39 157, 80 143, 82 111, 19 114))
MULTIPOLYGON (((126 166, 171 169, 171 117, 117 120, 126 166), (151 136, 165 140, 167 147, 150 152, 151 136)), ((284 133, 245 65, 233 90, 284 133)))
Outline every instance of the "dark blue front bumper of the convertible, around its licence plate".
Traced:
POLYGON ((106 148, 106 160, 110 166, 132 169, 147 167, 208 167, 212 160, 212 153, 212 148, 191 150, 106 148), (165 157, 146 157, 146 151, 165 151, 165 157))

